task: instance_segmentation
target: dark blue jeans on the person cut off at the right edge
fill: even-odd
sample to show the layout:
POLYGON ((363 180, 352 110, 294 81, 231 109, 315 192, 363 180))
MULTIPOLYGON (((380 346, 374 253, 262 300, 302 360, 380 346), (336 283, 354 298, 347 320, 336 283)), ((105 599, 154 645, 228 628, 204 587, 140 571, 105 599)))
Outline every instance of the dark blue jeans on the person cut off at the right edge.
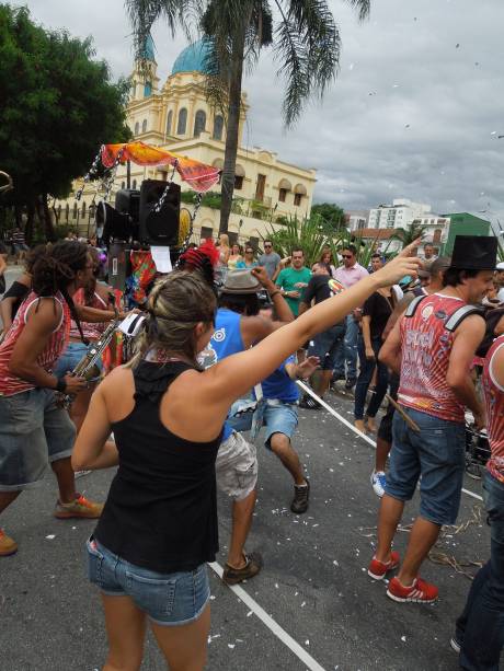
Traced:
POLYGON ((504 484, 485 472, 483 489, 490 560, 478 571, 457 620, 460 668, 466 671, 499 671, 504 647, 504 484))

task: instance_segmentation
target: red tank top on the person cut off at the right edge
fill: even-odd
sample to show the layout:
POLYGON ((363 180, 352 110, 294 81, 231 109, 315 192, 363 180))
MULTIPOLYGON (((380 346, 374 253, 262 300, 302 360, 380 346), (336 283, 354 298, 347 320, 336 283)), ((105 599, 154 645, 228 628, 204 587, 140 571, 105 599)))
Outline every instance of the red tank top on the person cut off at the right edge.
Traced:
POLYGON ((504 387, 493 377, 492 360, 504 346, 504 335, 496 338, 489 349, 483 367, 483 392, 486 406, 486 432, 491 456, 486 463, 490 473, 504 483, 504 387))

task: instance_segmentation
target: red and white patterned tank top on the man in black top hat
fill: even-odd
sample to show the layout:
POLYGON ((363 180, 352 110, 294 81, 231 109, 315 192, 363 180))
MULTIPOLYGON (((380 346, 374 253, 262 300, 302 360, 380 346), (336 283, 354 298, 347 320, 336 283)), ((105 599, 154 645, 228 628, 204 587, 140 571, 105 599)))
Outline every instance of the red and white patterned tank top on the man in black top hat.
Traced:
POLYGON ((423 299, 413 316, 402 317, 398 394, 402 405, 463 423, 463 405, 446 383, 454 334, 445 328, 445 322, 465 304, 459 298, 433 293, 423 299))

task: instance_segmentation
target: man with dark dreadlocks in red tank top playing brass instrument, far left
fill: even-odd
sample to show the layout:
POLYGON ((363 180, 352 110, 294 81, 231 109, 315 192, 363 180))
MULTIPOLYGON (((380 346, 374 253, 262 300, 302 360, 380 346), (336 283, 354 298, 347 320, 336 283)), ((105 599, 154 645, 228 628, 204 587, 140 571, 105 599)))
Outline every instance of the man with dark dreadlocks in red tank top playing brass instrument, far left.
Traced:
MULTIPOLYGON (((50 464, 59 487, 55 517, 98 518, 102 506, 76 493, 70 463, 76 429, 56 392, 77 394, 87 381, 50 371, 68 343, 72 296, 91 279, 85 244, 64 241, 33 267, 32 291, 0 345, 0 513, 44 476, 50 464)), ((83 336, 82 336, 83 337, 83 336)), ((0 556, 18 544, 0 529, 0 556)))

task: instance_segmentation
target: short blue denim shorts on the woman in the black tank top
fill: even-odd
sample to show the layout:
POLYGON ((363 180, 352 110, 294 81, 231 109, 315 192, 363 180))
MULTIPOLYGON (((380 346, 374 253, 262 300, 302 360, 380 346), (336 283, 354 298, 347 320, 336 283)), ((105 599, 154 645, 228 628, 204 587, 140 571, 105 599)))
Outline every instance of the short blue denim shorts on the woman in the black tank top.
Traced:
POLYGON ((159 574, 125 562, 93 536, 87 549, 90 581, 107 597, 129 597, 156 624, 190 624, 210 599, 206 564, 190 571, 159 574))

